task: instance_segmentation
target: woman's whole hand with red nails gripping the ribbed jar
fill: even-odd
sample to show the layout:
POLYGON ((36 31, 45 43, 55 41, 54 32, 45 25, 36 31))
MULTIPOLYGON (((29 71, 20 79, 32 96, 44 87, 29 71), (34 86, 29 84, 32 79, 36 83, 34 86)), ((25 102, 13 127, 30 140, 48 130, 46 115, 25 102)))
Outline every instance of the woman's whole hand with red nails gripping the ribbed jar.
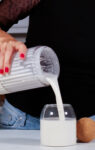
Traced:
POLYGON ((0 29, 0 74, 9 73, 13 55, 17 51, 20 58, 25 59, 27 48, 24 43, 0 29))

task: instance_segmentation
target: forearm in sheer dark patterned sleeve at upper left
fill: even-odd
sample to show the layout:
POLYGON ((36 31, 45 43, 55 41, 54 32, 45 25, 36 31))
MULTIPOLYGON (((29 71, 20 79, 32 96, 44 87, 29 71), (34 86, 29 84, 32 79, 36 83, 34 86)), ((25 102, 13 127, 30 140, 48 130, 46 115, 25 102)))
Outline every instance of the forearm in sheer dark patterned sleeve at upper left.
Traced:
POLYGON ((7 31, 13 24, 29 15, 40 0, 3 0, 0 3, 0 27, 7 31))

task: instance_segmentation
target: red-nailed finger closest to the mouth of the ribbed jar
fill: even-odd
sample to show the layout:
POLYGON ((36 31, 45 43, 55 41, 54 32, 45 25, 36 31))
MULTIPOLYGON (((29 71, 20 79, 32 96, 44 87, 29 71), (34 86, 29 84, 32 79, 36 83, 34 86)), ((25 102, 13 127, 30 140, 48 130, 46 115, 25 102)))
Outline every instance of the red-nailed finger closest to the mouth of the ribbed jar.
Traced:
POLYGON ((25 59, 27 47, 22 42, 14 42, 14 47, 19 51, 20 59, 25 59))

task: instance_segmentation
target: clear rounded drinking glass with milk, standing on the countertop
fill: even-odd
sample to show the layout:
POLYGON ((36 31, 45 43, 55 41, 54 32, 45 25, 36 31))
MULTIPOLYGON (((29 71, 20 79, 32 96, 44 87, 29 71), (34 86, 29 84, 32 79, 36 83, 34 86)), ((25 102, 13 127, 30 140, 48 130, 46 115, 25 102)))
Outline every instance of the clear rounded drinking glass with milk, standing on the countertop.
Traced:
POLYGON ((44 146, 76 144, 76 117, 70 104, 64 104, 65 120, 60 120, 56 104, 45 105, 40 117, 40 139, 44 146))

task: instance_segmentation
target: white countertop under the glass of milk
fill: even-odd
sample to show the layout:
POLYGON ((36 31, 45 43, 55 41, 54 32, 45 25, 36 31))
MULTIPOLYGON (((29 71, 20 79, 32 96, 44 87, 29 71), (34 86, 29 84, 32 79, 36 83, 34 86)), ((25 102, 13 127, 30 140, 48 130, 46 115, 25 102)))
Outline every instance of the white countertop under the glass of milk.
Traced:
POLYGON ((95 150, 95 140, 68 147, 40 145, 39 130, 0 130, 0 150, 95 150))

